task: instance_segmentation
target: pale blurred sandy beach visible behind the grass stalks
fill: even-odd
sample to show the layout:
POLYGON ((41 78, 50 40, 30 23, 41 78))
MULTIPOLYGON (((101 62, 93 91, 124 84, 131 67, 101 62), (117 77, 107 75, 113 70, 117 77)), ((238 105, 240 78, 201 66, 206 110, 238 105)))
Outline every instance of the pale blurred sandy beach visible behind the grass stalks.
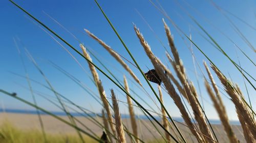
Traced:
MULTIPOLYGON (((62 116, 61 118, 68 121, 67 117, 62 116)), ((102 129, 97 125, 95 125, 94 123, 92 123, 89 119, 84 117, 76 117, 76 118, 80 120, 88 128, 90 128, 93 132, 95 132, 99 136, 101 135, 102 129)), ((16 128, 20 130, 40 129, 37 115, 19 114, 19 113, 0 113, 0 124, 4 123, 4 121, 6 120, 12 123, 16 128)), ((68 125, 48 115, 42 115, 42 120, 44 122, 47 133, 51 133, 51 134, 75 134, 76 133, 72 127, 69 127, 68 125)), ((96 120, 101 122, 101 119, 96 119, 96 120)), ((127 128, 131 129, 131 124, 129 119, 123 119, 123 123, 127 128)), ((187 127, 179 123, 177 123, 177 125, 179 126, 184 136, 187 138, 188 142, 193 142, 192 140, 195 140, 195 138, 193 136, 190 136, 189 135, 190 133, 187 132, 188 131, 187 127)), ((79 123, 78 123, 78 126, 82 127, 81 125, 79 125, 79 123)), ((216 135, 219 139, 219 142, 228 142, 228 139, 225 135, 222 125, 213 125, 213 128, 216 131, 216 135)), ((232 128, 234 133, 239 138, 240 142, 245 142, 242 135, 241 126, 233 125, 232 128)), ((84 130, 87 130, 87 129, 84 128, 84 130)), ((153 125, 148 120, 140 121, 139 132, 140 132, 140 137, 143 138, 143 140, 147 140, 147 141, 152 140, 154 139, 154 136, 156 138, 161 138, 161 136, 157 133, 153 125), (148 129, 152 133, 148 131, 148 129), (152 134, 154 134, 154 136, 152 134)), ((127 139, 127 140, 129 141, 130 139, 127 139)))

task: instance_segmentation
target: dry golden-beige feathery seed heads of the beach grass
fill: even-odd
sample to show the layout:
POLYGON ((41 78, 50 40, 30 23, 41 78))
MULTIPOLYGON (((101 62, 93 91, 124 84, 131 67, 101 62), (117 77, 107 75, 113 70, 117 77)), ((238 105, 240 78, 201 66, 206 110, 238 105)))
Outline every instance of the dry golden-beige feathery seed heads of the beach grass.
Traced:
MULTIPOLYGON (((144 48, 146 55, 151 60, 158 76, 161 78, 166 92, 169 94, 170 97, 172 97, 176 106, 179 108, 182 118, 184 119, 190 132, 194 135, 194 137, 196 137, 198 142, 210 142, 210 143, 216 142, 208 125, 207 125, 207 122, 206 122, 206 119, 205 119, 205 116, 203 113, 203 109, 201 108, 200 103, 198 101, 198 94, 197 94, 197 90, 194 86, 194 83, 192 81, 189 81, 189 79, 187 78, 188 76, 186 75, 185 67, 182 63, 182 60, 180 59, 178 50, 175 47, 174 40, 173 40, 172 35, 170 34, 168 25, 164 22, 164 30, 165 30, 165 33, 166 33, 166 36, 168 39, 168 43, 170 46, 170 50, 172 51, 174 59, 172 59, 171 56, 167 52, 166 52, 166 55, 167 55, 168 60, 172 64, 173 69, 180 81, 178 81, 175 78, 175 76, 173 75, 173 73, 160 61, 160 59, 158 59, 154 55, 154 53, 151 50, 150 45, 148 45, 148 43, 145 41, 144 37, 139 32, 139 29, 136 26, 134 27, 134 30, 136 32, 137 37, 139 38, 139 41, 140 41, 142 47, 144 48), (185 105, 182 103, 181 98, 180 98, 179 94, 176 92, 175 87, 171 81, 173 81, 173 83, 175 84, 175 86, 177 87, 177 89, 179 90, 181 95, 187 100, 190 107, 193 109, 194 118, 197 121, 197 124, 193 124, 191 122, 188 112, 186 111, 185 105)), ((108 50, 108 52, 124 67, 124 69, 126 71, 128 71, 130 73, 130 75, 142 86, 142 84, 139 81, 139 79, 137 78, 137 76, 133 73, 133 71, 129 68, 129 66, 127 66, 124 63, 124 61, 121 59, 121 57, 118 53, 116 53, 114 50, 112 50, 110 46, 106 45, 102 40, 97 38, 95 35, 90 33, 88 30, 85 30, 85 31, 89 34, 90 37, 95 39, 106 50, 108 50)), ((80 45, 80 47, 83 50, 84 56, 86 56, 86 58, 88 58, 89 60, 92 60, 90 58, 90 55, 87 53, 86 48, 83 45, 80 45)), ((105 91, 102 87, 102 83, 99 80, 99 75, 98 75, 95 67, 90 63, 88 63, 88 64, 89 64, 89 68, 92 72, 92 75, 94 77, 94 81, 97 85, 99 95, 102 100, 104 109, 106 110, 106 115, 108 117, 107 119, 105 119, 105 117, 104 117, 105 114, 102 111, 104 128, 105 128, 105 130, 109 130, 109 125, 110 125, 113 134, 116 135, 116 137, 117 137, 117 141, 118 142, 126 142, 125 132, 123 129, 122 120, 121 120, 121 116, 120 116, 120 112, 119 112, 119 106, 118 106, 118 102, 117 102, 115 93, 113 90, 111 90, 113 111, 114 111, 114 117, 115 117, 115 126, 114 126, 111 108, 106 99, 106 95, 105 95, 105 91)), ((234 135, 231 125, 229 124, 225 105, 221 99, 219 89, 218 89, 218 87, 214 81, 214 78, 212 77, 206 63, 204 63, 204 65, 205 65, 207 74, 209 76, 209 79, 210 79, 210 82, 211 82, 211 85, 212 85, 212 88, 214 89, 214 91, 211 89, 210 84, 206 81, 205 81, 205 87, 206 87, 206 90, 207 90, 212 102, 214 103, 214 107, 216 108, 216 110, 218 112, 218 115, 219 115, 221 122, 224 126, 224 130, 228 136, 228 139, 230 142, 239 142, 236 135, 234 135)), ((224 85, 227 93, 231 97, 234 105, 236 106, 238 118, 239 118, 242 128, 243 128, 245 140, 247 142, 255 142, 255 139, 254 139, 256 136, 255 121, 251 118, 251 115, 250 115, 250 112, 248 111, 247 106, 243 103, 243 101, 241 99, 241 96, 242 96, 241 90, 239 89, 238 85, 237 85, 237 87, 234 87, 233 85, 231 85, 231 83, 226 79, 226 77, 216 67, 214 67, 214 66, 211 66, 211 67, 212 67, 212 69, 214 69, 214 71, 218 75, 218 77, 221 80, 222 84, 224 85)), ((124 88, 128 93, 130 92, 129 85, 127 83, 125 76, 124 76, 124 88)), ((158 90, 159 90, 160 102, 163 103, 163 97, 162 97, 162 92, 161 92, 160 86, 158 86, 158 90)), ((140 142, 138 139, 139 133, 138 133, 137 121, 136 121, 136 117, 135 117, 135 113, 134 113, 134 109, 133 109, 132 100, 127 95, 126 95, 126 98, 127 98, 127 104, 128 104, 129 113, 130 113, 132 133, 135 136, 136 143, 138 143, 138 142, 140 142)), ((169 127, 172 129, 172 131, 174 131, 172 126, 169 126, 170 124, 166 118, 166 112, 163 107, 161 107, 161 112, 162 112, 161 115, 162 115, 163 127, 167 131, 169 131, 169 127)), ((106 131, 106 133, 109 138, 109 141, 113 142, 113 138, 110 137, 111 133, 108 131, 106 131)), ((175 131, 174 131, 174 133, 175 133, 175 131)), ((176 135, 176 137, 177 137, 177 135, 176 135)), ((172 142, 172 140, 167 132, 165 132, 165 138, 166 138, 167 142, 172 142)), ((178 137, 178 139, 179 139, 179 137, 178 137)))

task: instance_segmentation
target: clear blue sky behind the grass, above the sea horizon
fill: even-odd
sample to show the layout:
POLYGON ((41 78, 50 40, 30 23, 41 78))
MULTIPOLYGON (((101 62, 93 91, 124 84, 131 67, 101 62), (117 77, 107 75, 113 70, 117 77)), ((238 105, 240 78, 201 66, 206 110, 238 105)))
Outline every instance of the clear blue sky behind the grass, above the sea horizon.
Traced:
MULTIPOLYGON (((51 17, 60 22, 65 26, 71 33, 73 33, 79 41, 83 42, 87 48, 93 50, 98 58, 103 62, 110 70, 122 80, 123 74, 129 77, 129 74, 117 63, 114 58, 103 49, 97 42, 91 39, 83 31, 83 28, 87 28, 90 32, 95 34, 97 37, 102 39, 106 44, 110 45, 115 51, 124 56, 129 61, 132 61, 129 54, 125 51, 124 47, 118 40, 117 36, 113 32, 109 23, 105 20, 99 8, 94 1, 15 1, 17 4, 25 8, 35 17, 40 19, 46 25, 51 27, 56 33, 66 39, 71 45, 79 48, 79 42, 76 41, 69 33, 63 30, 58 24, 56 24, 52 19, 50 19, 45 13, 49 14, 51 17), (45 13, 44 13, 45 12, 45 13)), ((116 30, 119 32, 120 36, 124 40, 125 44, 129 47, 133 53, 135 59, 141 66, 142 70, 145 72, 148 68, 153 68, 150 60, 148 60, 146 54, 140 45, 135 32, 133 30, 133 23, 140 28, 141 33, 147 40, 148 44, 151 45, 153 52, 168 66, 170 64, 167 62, 165 57, 165 51, 161 43, 157 40, 156 35, 163 42, 164 46, 168 48, 167 38, 165 37, 162 18, 165 18, 151 3, 150 1, 98 1, 105 11, 106 15, 110 18, 116 30), (147 24, 138 12, 143 15, 145 20, 150 24, 155 32, 155 34, 148 28, 147 24)), ((156 3, 155 1, 153 1, 156 3)), ((236 42, 237 45, 245 51, 245 53, 255 62, 255 53, 250 49, 250 47, 239 37, 239 35, 234 31, 230 22, 223 16, 223 14, 218 11, 210 1, 159 1, 161 6, 164 8, 166 13, 174 20, 174 22, 185 32, 185 34, 191 34, 193 41, 209 56, 210 59, 221 69, 221 71, 232 79, 232 81, 238 83, 246 96, 248 101, 246 89, 244 86, 243 78, 241 73, 230 63, 230 61, 225 58, 218 50, 216 50, 212 45, 210 45, 201 35, 206 35, 199 29, 199 27, 193 22, 187 13, 195 17, 195 19, 207 30, 207 32, 215 38, 215 40, 220 44, 220 46, 227 52, 227 54, 236 62, 238 58, 241 62, 242 67, 255 77, 255 68, 250 63, 245 56, 231 43, 225 36, 223 36, 215 27, 225 33, 230 39, 236 42)), ((255 1, 215 1, 215 3, 230 11, 234 15, 240 17, 248 24, 256 27, 256 3, 255 1)), ((156 3, 157 4, 157 3, 156 3)), ((243 22, 239 21, 237 18, 225 13, 228 18, 232 20, 242 32, 242 34, 248 39, 252 46, 256 46, 255 29, 247 26, 243 22)), ((90 74, 87 62, 82 59, 77 53, 73 52, 66 45, 65 47, 74 54, 81 65, 86 69, 86 72, 82 70, 81 67, 71 58, 71 56, 61 48, 48 34, 41 30, 41 28, 36 25, 33 20, 31 20, 24 12, 16 8, 8 1, 0 2, 0 39, 1 39, 1 53, 0 53, 0 87, 9 92, 16 92, 18 96, 23 97, 29 101, 32 101, 31 94, 28 90, 24 89, 21 85, 28 88, 28 83, 25 78, 20 78, 10 72, 15 72, 21 75, 25 75, 22 62, 18 55, 17 49, 13 39, 16 39, 17 44, 20 47, 25 66, 28 70, 29 77, 38 80, 41 83, 46 84, 44 78, 36 70, 30 60, 27 58, 24 50, 24 46, 30 51, 34 59, 46 74, 47 78, 52 83, 54 89, 59 93, 65 95, 78 105, 82 105, 88 109, 95 112, 99 112, 101 107, 99 104, 90 97, 83 89, 81 89, 76 83, 70 80, 67 76, 60 73, 53 66, 49 64, 51 61, 61 68, 65 69, 73 76, 85 83, 91 90, 96 94, 96 87, 93 85, 92 81, 89 79, 86 72, 90 74)), ((194 73, 193 60, 191 58, 191 53, 188 50, 186 44, 190 45, 189 41, 185 39, 184 36, 180 35, 176 28, 170 23, 170 21, 165 18, 165 21, 170 26, 170 30, 175 39, 175 44, 180 53, 181 59, 186 67, 186 72, 189 79, 194 81, 196 88, 199 90, 197 84, 197 79, 194 73), (181 37, 182 36, 182 37, 181 37), (185 40, 183 40, 183 38, 185 40), (185 42, 186 43, 185 43, 185 42)), ((63 44, 63 43, 62 43, 63 44)), ((170 51, 170 50, 169 50, 170 51)), ((203 67, 202 61, 206 58, 193 46, 193 51, 196 55, 197 61, 199 62, 204 73, 205 69, 203 67)), ((99 67, 100 64, 93 59, 99 67)), ((126 62, 129 64, 128 62, 126 62)), ((209 64, 209 62, 207 61, 209 64)), ((143 77, 140 75, 139 71, 131 64, 129 66, 134 70, 135 74, 142 81, 145 89, 153 97, 153 93, 148 88, 143 77)), ((105 70, 104 70, 105 71, 105 70)), ((199 82, 201 95, 203 97, 203 105, 206 113, 208 113, 209 118, 217 119, 217 113, 212 107, 212 103, 205 91, 202 73, 197 66, 197 72, 199 73, 199 82)), ((119 100, 125 101, 123 93, 109 81, 104 75, 99 73, 102 80, 104 89, 108 97, 110 97, 110 89, 113 88, 118 95, 119 100)), ((219 85, 220 82, 214 75, 215 80, 219 85)), ((153 107, 154 102, 148 98, 143 91, 137 88, 136 85, 129 79, 130 87, 140 95, 144 100, 146 100, 153 107)), ((251 79, 252 83, 253 80, 251 79)), ((157 90, 157 85, 153 84, 154 88, 157 90)), ((248 82, 246 82, 248 87, 248 92, 251 97, 252 104, 255 105, 256 97, 254 90, 250 87, 248 82)), ((54 94, 40 85, 32 82, 33 90, 54 96, 54 94)), ((225 92, 222 90, 225 94, 225 92)), ((226 95, 226 94, 225 94, 226 95)), ((222 95, 223 100, 226 104, 228 110, 228 116, 232 120, 236 120, 236 111, 231 101, 222 95)), ((136 98, 137 99, 137 98, 136 98)), ((0 96, 1 104, 6 108, 14 109, 32 109, 31 107, 7 97, 1 94, 0 96)), ((165 105, 170 111, 170 115, 174 117, 180 117, 179 110, 175 106, 173 100, 164 93, 165 105)), ((201 101, 201 99, 200 99, 201 101)), ((37 102, 40 106, 45 107, 49 110, 58 110, 54 105, 50 104, 48 101, 37 96, 37 102)), ((145 105, 142 103, 142 105, 145 105)), ((146 107, 146 105, 145 105, 146 107)), ((254 106, 255 107, 255 106, 254 106)), ((126 105, 120 103, 120 108, 122 113, 127 113, 126 105)), ((148 107, 147 107, 148 108, 148 107)), ((136 110, 137 113, 140 113, 136 110)))

